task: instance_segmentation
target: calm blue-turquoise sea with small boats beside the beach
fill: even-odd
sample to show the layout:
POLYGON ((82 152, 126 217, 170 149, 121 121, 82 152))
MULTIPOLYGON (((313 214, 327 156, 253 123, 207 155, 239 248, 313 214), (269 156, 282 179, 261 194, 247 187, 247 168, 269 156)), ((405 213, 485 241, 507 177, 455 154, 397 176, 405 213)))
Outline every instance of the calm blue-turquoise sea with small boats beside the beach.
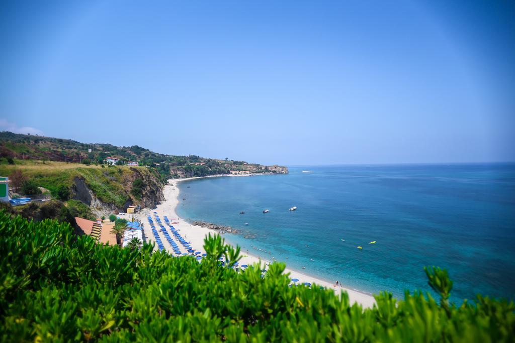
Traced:
POLYGON ((289 170, 180 183, 178 214, 242 229, 226 240, 359 291, 428 290, 423 267, 437 265, 449 269, 456 302, 515 299, 514 164, 289 170))

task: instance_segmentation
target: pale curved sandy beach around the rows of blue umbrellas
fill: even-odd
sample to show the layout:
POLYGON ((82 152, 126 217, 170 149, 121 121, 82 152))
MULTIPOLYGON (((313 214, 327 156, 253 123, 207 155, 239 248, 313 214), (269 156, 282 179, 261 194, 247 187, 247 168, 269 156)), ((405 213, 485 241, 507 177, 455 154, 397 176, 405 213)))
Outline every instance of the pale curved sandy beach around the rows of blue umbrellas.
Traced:
MULTIPOLYGON (((195 248, 195 250, 200 250, 205 252, 203 250, 203 244, 204 244, 204 237, 207 236, 208 233, 211 234, 218 234, 218 231, 211 230, 208 228, 195 226, 187 223, 185 220, 178 217, 175 209, 176 206, 179 203, 179 188, 177 187, 179 182, 182 182, 184 180, 188 180, 192 178, 183 178, 183 179, 171 179, 169 180, 169 184, 166 185, 163 189, 163 193, 165 196, 165 201, 157 206, 156 209, 144 209, 142 210, 138 216, 142 223, 144 223, 144 231, 145 236, 147 238, 148 242, 154 242, 154 237, 150 229, 150 225, 147 220, 147 214, 152 214, 154 211, 158 212, 159 216, 161 217, 161 220, 163 220, 163 216, 167 216, 168 219, 171 222, 178 222, 178 224, 173 224, 174 227, 177 230, 180 230, 182 237, 188 241, 191 242, 191 246, 195 248)), ((164 239, 164 236, 161 235, 161 240, 165 246, 165 248, 168 251, 172 251, 170 245, 168 242, 164 239)), ((224 235, 222 234, 222 237, 224 235)), ((268 260, 260 259, 256 256, 253 256, 252 254, 247 254, 247 252, 242 251, 241 255, 243 256, 242 259, 239 261, 239 264, 247 264, 251 265, 254 263, 261 264, 262 267, 266 268, 266 264, 269 263, 268 260)), ((284 262, 284 261, 283 261, 284 262)), ((323 281, 320 279, 316 279, 312 276, 305 275, 303 273, 298 272, 297 270, 285 269, 285 273, 289 273, 290 278, 296 278, 299 279, 299 282, 297 283, 303 283, 303 282, 310 282, 311 284, 316 283, 317 285, 327 287, 328 289, 334 290, 336 294, 339 294, 341 291, 346 291, 349 294, 349 299, 351 303, 357 302, 364 306, 365 308, 371 307, 375 300, 372 296, 368 294, 364 294, 361 292, 354 291, 349 288, 345 288, 342 286, 336 286, 334 283, 323 281)))

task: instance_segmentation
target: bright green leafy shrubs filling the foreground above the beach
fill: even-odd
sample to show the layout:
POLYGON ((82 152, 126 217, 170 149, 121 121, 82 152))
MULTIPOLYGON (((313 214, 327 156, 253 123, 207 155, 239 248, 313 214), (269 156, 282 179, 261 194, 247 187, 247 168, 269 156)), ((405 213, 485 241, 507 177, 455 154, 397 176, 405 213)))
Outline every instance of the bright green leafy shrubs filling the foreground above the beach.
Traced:
POLYGON ((39 223, 0 212, 2 341, 513 341, 512 302, 478 297, 459 307, 445 298, 450 282, 438 268, 429 283, 443 295, 376 296, 363 310, 346 293, 289 287, 284 264, 264 278, 219 266, 237 260, 220 237, 208 258, 108 247, 77 237, 68 224, 39 223), (445 304, 445 305, 442 305, 445 304))

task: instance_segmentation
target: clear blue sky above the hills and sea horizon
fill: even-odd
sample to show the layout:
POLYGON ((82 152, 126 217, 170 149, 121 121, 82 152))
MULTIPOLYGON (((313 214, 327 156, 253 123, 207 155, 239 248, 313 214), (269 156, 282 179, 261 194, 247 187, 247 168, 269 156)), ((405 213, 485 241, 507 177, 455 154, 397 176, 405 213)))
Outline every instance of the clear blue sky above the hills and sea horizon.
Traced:
POLYGON ((515 160, 513 1, 9 1, 0 130, 265 164, 515 160))

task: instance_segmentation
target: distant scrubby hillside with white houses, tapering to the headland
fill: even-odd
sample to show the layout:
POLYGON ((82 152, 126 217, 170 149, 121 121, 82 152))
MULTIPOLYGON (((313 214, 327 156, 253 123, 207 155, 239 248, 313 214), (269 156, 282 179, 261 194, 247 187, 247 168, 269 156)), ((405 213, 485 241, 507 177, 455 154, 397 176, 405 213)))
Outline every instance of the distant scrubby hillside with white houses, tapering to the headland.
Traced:
POLYGON ((250 170, 255 173, 287 171, 285 167, 281 169, 271 166, 269 169, 266 166, 228 158, 221 160, 195 155, 166 155, 139 146, 116 147, 110 144, 81 143, 71 139, 0 132, 0 163, 8 163, 9 158, 18 158, 101 164, 108 156, 122 161, 138 161, 141 166, 149 166, 158 171, 164 180, 169 177, 229 173, 230 170, 250 170))

